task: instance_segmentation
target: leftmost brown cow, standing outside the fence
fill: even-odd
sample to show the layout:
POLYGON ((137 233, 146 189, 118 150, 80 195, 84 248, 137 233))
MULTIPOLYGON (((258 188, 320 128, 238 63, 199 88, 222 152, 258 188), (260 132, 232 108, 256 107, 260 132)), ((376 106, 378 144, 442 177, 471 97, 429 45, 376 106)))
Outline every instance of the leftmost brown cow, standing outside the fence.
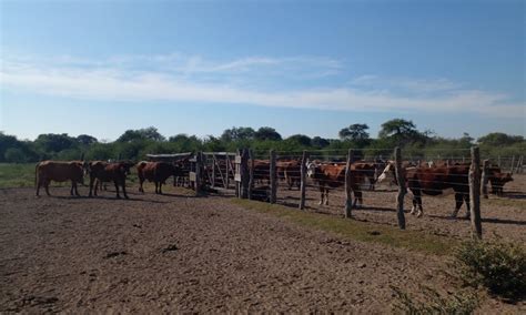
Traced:
POLYGON ((49 184, 51 181, 65 182, 71 181, 70 194, 80 195, 77 189, 77 183, 84 184, 84 166, 85 163, 81 161, 61 162, 61 161, 42 161, 37 163, 34 167, 34 182, 37 185, 37 196, 40 192, 40 186, 44 186, 45 194, 49 193, 49 184))

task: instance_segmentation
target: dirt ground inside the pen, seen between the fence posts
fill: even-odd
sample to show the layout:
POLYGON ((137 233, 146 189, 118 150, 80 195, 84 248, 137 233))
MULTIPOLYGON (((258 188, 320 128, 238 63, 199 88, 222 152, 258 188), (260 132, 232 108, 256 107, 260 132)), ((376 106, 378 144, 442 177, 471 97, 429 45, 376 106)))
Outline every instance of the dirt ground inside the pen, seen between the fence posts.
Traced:
MULTIPOLYGON (((489 194, 489 199, 481 200, 481 215, 483 219, 483 235, 485 238, 502 237, 526 242, 526 174, 515 174, 514 181, 504 187, 504 196, 489 194)), ((375 191, 364 191, 364 206, 353 211, 358 221, 368 221, 397 226, 396 194, 397 186, 382 184, 375 191)), ((343 190, 330 192, 330 205, 318 205, 320 192, 314 185, 308 185, 306 191, 307 211, 327 213, 331 215, 344 214, 345 195, 343 190)), ((471 237, 471 223, 465 219, 466 205, 461 207, 458 219, 452 220, 451 214, 455 209, 453 190, 445 191, 439 196, 423 196, 424 215, 417 219, 408 211, 412 207, 413 195, 405 197, 406 227, 408 230, 425 231, 437 235, 452 237, 471 237)), ((300 192, 293 187, 291 191, 282 185, 277 191, 279 203, 297 207, 300 192)))

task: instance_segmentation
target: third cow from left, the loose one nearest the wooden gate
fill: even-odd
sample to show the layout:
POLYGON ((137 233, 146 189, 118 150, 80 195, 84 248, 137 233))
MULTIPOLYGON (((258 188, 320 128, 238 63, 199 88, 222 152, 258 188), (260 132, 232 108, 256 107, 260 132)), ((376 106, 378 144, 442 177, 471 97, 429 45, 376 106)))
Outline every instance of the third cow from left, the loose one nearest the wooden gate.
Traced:
POLYGON ((139 175, 139 191, 144 192, 143 183, 145 180, 155 183, 155 193, 162 194, 162 185, 170 176, 182 176, 181 167, 166 162, 140 162, 136 164, 139 175))

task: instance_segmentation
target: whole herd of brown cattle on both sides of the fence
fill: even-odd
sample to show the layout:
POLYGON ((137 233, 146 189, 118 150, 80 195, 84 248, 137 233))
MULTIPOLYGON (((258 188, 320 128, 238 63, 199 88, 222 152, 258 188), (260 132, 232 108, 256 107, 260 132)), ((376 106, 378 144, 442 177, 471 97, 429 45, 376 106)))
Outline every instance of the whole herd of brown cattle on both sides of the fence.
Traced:
MULTIPOLYGON (((254 160, 249 163, 252 169, 255 182, 270 182, 270 161, 254 160)), ((455 210, 452 216, 456 216, 459 209, 466 203, 467 215, 469 215, 469 185, 468 172, 469 163, 411 163, 404 162, 402 174, 405 177, 405 185, 413 194, 412 214, 418 217, 423 214, 422 194, 439 195, 445 190, 452 189, 455 192, 455 210)), ((45 189, 50 195, 49 184, 51 181, 71 181, 71 195, 79 195, 78 184, 84 184, 84 175, 89 175, 89 196, 97 196, 102 183, 113 183, 117 197, 120 199, 120 191, 128 199, 125 181, 130 175, 130 169, 136 167, 139 177, 139 191, 144 192, 145 181, 155 184, 155 193, 162 194, 162 185, 171 176, 174 177, 174 185, 181 179, 188 179, 190 166, 188 160, 178 162, 139 162, 129 161, 43 161, 36 166, 37 196, 40 187, 45 189)), ((281 160, 276 162, 276 175, 285 183, 289 190, 301 183, 302 160, 281 160)), ((346 164, 341 162, 323 162, 318 160, 305 162, 306 175, 320 190, 320 205, 328 204, 328 192, 345 186, 346 164)), ((351 187, 354 193, 353 206, 363 205, 362 189, 374 190, 376 183, 390 181, 397 184, 393 161, 375 162, 354 161, 351 163, 351 187), (391 180, 387 180, 391 179, 391 180)), ((487 181, 492 185, 492 192, 502 195, 505 183, 513 181, 509 173, 503 173, 498 166, 490 165, 486 170, 487 181)), ((184 180, 183 180, 184 181, 184 180)), ((206 183, 206 182, 205 182, 206 183)), ((209 183, 210 184, 210 183, 209 183)))

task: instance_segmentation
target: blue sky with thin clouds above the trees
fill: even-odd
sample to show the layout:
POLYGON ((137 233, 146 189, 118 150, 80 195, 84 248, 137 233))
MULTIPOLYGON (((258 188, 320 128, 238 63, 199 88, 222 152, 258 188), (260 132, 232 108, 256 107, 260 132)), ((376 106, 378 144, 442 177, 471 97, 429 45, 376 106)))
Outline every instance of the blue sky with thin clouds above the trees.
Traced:
POLYGON ((524 1, 2 1, 0 130, 526 135, 524 1))

